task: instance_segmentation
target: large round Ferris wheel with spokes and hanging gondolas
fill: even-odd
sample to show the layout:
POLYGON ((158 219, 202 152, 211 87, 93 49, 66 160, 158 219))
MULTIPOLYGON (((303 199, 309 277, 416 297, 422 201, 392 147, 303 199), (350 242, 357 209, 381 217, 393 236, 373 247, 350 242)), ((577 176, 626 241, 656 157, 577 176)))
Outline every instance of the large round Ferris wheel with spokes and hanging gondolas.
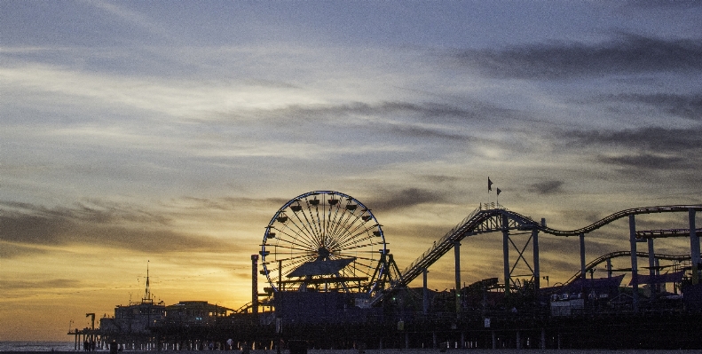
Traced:
POLYGON ((285 203, 265 227, 262 274, 272 291, 371 294, 387 252, 382 225, 344 193, 304 193, 285 203))

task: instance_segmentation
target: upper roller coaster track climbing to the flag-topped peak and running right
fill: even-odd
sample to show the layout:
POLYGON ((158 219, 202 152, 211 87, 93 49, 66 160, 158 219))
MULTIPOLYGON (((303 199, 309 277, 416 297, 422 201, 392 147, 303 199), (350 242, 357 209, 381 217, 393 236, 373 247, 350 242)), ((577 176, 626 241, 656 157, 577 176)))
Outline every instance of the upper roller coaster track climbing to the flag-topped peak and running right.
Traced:
MULTIPOLYGON (((481 204, 481 206, 473 210, 469 216, 466 216, 461 223, 457 224, 453 229, 451 229, 451 231, 446 232, 444 237, 435 242, 431 248, 422 253, 422 256, 419 256, 412 264, 406 267, 406 269, 400 273, 399 278, 393 281, 390 287, 385 289, 383 294, 393 292, 400 287, 406 287, 410 282, 422 274, 424 269, 429 268, 431 264, 434 264, 439 258, 446 255, 451 248, 454 248, 454 244, 456 242, 460 242, 464 238, 478 233, 499 232, 503 230, 538 230, 540 232, 545 232, 555 236, 578 236, 581 233, 585 234, 588 232, 593 232, 600 227, 610 224, 611 222, 622 217, 641 214, 680 213, 688 212, 690 209, 702 211, 702 205, 672 205, 629 208, 611 214, 610 216, 606 216, 602 220, 580 229, 562 231, 541 225, 540 223, 533 221, 531 217, 509 211, 507 208, 502 208, 500 205, 498 205, 496 208, 493 207, 484 209, 483 205, 481 204), (507 224, 502 225, 502 223, 505 221, 507 221, 507 224)), ((377 301, 383 297, 383 294, 376 296, 371 303, 377 303, 377 301)))

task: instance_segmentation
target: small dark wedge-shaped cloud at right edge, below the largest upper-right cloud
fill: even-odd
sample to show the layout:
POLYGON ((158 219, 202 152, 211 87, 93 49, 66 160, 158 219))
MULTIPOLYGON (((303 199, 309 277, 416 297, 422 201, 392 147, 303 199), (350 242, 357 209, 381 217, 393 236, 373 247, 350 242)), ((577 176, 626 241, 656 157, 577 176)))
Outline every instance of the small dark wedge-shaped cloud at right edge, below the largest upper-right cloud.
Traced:
POLYGON ((604 97, 611 101, 627 101, 652 106, 667 114, 677 115, 696 121, 702 120, 702 94, 624 94, 604 97))

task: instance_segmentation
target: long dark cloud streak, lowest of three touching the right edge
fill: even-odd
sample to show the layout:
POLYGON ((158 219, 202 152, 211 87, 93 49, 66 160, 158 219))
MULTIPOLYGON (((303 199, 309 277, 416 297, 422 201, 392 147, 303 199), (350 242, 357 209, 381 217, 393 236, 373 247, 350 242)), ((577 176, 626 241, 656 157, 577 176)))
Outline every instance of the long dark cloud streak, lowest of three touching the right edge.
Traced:
POLYGON ((563 132, 563 144, 568 146, 627 147, 651 153, 682 153, 692 156, 702 150, 702 127, 667 129, 649 127, 638 130, 589 130, 563 132))

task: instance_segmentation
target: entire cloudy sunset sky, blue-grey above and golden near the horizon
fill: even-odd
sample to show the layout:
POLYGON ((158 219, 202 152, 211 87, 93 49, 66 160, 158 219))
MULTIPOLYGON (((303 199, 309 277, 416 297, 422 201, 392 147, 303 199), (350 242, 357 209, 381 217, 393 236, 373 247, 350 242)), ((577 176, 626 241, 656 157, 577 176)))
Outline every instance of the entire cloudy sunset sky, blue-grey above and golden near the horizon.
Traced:
MULTIPOLYGON (((372 208, 400 269, 495 201, 487 177, 563 230, 700 204, 701 23, 698 1, 0 1, 0 341, 72 341, 147 263, 167 304, 238 308, 264 226, 315 190, 372 208)), ((551 285, 579 270, 577 239, 541 242, 551 285)), ((501 278, 501 235, 461 261, 501 278)))

